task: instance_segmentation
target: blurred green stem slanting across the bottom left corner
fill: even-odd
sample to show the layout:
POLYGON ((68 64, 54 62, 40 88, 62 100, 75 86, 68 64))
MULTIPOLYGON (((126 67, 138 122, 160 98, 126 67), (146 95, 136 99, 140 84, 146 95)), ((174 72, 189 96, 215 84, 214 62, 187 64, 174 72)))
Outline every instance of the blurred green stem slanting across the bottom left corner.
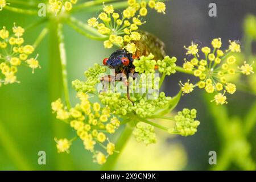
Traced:
POLYGON ((20 153, 20 149, 15 143, 15 140, 11 138, 9 132, 6 131, 5 127, 0 122, 0 143, 1 150, 5 150, 9 158, 13 160, 13 163, 20 170, 32 170, 30 164, 27 163, 26 157, 20 153))

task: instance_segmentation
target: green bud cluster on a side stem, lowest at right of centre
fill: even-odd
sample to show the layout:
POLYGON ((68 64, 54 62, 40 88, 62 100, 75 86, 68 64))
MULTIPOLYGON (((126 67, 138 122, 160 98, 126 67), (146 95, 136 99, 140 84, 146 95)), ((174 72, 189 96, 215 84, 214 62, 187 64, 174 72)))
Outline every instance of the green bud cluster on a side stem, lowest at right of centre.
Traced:
POLYGON ((193 135, 197 131, 197 126, 200 125, 199 121, 195 121, 196 110, 183 109, 175 115, 174 119, 176 121, 174 129, 169 129, 171 134, 179 134, 181 136, 187 137, 193 135))

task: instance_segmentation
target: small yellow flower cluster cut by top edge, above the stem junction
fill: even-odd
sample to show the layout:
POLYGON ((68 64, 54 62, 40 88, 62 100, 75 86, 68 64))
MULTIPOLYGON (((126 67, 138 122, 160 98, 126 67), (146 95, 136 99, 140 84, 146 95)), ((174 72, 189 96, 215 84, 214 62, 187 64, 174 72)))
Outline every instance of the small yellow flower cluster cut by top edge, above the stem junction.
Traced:
POLYGON ((55 15, 57 15, 63 7, 66 11, 72 10, 72 6, 76 3, 77 0, 49 0, 49 6, 55 15))

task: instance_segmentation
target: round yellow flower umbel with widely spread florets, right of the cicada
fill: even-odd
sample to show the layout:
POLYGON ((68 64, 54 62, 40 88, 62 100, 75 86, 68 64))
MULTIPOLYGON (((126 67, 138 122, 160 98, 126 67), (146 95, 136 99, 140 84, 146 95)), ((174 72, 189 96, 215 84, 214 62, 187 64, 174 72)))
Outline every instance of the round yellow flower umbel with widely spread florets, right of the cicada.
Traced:
POLYGON ((241 52, 240 44, 236 41, 229 41, 229 43, 229 48, 222 51, 220 49, 221 39, 213 39, 213 50, 210 47, 201 48, 204 59, 200 59, 197 44, 192 42, 191 46, 185 47, 187 55, 192 55, 193 58, 190 61, 185 60, 183 68, 185 71, 192 72, 194 76, 199 77, 200 81, 196 84, 190 83, 189 80, 185 84, 180 82, 183 94, 191 93, 198 86, 200 89, 205 89, 207 93, 216 92, 213 100, 216 104, 227 103, 225 93, 233 94, 236 92, 236 85, 229 82, 229 77, 237 73, 243 73, 244 75, 253 73, 253 68, 249 64, 245 63, 241 67, 236 67, 236 57, 230 55, 230 53, 241 52))

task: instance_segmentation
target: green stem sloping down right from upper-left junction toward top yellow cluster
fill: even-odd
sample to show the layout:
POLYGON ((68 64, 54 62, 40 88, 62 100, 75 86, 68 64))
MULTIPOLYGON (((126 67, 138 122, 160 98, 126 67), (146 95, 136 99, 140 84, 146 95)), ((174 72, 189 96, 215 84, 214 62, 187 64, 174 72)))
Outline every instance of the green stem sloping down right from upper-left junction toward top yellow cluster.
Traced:
POLYGON ((66 21, 66 23, 71 27, 73 28, 75 31, 79 32, 81 35, 84 35, 86 36, 87 38, 89 39, 93 39, 93 40, 107 40, 108 37, 107 36, 103 36, 101 35, 100 33, 98 33, 94 28, 92 27, 89 27, 88 25, 84 24, 84 23, 81 23, 79 22, 79 20, 76 20, 75 18, 70 18, 66 21), (82 27, 82 28, 80 28, 82 27), (94 34, 94 35, 97 35, 97 36, 94 36, 90 33, 94 34))

